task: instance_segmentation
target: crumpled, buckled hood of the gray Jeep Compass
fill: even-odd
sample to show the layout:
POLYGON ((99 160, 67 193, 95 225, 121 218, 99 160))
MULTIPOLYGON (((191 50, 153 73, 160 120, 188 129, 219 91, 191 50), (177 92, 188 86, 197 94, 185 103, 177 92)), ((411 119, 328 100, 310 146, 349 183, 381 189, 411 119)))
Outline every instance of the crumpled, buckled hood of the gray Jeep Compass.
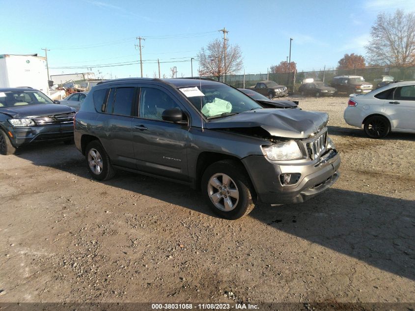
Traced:
POLYGON ((257 109, 212 119, 207 129, 261 127, 271 136, 302 139, 319 132, 329 122, 329 115, 296 109, 257 109))

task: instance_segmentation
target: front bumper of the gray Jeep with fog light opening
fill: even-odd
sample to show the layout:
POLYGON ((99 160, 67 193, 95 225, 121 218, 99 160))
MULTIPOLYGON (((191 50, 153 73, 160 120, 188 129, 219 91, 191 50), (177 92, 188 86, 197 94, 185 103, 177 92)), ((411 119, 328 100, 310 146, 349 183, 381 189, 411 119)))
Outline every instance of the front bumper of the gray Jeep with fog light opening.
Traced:
POLYGON ((242 161, 259 200, 270 204, 304 202, 331 187, 340 176, 341 160, 335 150, 307 165, 276 165, 265 156, 249 156, 242 161), (283 173, 301 173, 301 178, 294 185, 282 186, 279 176, 283 173))

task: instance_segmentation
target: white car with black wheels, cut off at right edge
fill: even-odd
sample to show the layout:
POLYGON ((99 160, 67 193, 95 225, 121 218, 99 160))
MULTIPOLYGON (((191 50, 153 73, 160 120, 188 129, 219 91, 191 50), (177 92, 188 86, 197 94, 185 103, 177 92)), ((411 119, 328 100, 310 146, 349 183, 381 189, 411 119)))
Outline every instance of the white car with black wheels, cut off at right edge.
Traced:
POLYGON ((347 124, 362 127, 370 138, 389 132, 415 133, 415 81, 392 83, 367 94, 350 95, 347 124))

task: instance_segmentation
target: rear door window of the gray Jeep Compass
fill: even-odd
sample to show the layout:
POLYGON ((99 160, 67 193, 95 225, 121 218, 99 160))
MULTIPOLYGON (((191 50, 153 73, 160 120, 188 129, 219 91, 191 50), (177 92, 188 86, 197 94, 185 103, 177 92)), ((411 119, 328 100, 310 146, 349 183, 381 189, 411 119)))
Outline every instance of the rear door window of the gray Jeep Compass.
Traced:
POLYGON ((108 97, 107 113, 133 115, 135 87, 111 88, 108 97))

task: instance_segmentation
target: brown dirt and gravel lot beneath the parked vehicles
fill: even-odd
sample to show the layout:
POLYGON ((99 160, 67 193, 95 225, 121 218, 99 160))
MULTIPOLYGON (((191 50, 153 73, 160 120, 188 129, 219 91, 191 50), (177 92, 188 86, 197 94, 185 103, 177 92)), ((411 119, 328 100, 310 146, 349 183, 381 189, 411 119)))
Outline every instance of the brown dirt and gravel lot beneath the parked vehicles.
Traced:
POLYGON ((414 302, 415 135, 368 139, 346 102, 300 99, 330 114, 338 182, 233 222, 183 185, 93 181, 74 146, 1 156, 0 302, 414 302))

